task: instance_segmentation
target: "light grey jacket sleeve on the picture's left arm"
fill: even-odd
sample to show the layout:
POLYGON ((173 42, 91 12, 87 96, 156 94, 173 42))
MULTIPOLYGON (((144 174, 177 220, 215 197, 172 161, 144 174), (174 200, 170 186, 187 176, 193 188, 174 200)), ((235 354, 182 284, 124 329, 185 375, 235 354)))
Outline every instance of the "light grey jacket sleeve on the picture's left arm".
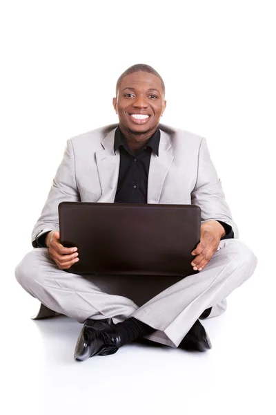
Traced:
POLYGON ((63 160, 57 169, 52 187, 41 215, 32 230, 32 246, 37 248, 37 238, 51 230, 59 230, 59 203, 80 201, 75 178, 75 156, 71 140, 67 141, 63 160))

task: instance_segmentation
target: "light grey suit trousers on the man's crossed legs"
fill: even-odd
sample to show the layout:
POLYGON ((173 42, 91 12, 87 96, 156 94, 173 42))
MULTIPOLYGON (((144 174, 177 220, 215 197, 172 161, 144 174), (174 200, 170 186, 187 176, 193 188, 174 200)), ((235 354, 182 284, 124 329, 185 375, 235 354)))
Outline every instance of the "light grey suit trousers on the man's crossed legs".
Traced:
POLYGON ((207 266, 185 278, 72 274, 57 268, 47 248, 29 252, 15 275, 52 315, 81 323, 87 318, 111 317, 117 323, 135 317, 155 329, 146 338, 178 347, 206 308, 212 307, 209 317, 225 311, 226 297, 256 266, 257 257, 244 243, 224 239, 207 266))

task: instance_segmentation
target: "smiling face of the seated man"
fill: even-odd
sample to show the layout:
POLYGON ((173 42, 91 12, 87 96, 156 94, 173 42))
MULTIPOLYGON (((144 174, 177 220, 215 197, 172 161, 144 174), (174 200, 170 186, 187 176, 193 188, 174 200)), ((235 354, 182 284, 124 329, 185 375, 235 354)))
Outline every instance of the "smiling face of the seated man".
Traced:
POLYGON ((159 77, 135 72, 124 77, 113 106, 121 129, 136 135, 154 133, 166 108, 159 77))

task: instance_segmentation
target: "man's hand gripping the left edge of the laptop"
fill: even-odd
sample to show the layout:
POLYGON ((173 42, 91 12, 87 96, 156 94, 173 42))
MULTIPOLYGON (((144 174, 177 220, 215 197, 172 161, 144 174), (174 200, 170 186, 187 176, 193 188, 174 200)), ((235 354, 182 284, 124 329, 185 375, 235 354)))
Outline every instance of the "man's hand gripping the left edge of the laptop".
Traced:
POLYGON ((68 270, 72 264, 79 261, 77 247, 65 248, 59 241, 59 232, 52 230, 45 239, 46 246, 49 248, 49 255, 61 270, 68 270))

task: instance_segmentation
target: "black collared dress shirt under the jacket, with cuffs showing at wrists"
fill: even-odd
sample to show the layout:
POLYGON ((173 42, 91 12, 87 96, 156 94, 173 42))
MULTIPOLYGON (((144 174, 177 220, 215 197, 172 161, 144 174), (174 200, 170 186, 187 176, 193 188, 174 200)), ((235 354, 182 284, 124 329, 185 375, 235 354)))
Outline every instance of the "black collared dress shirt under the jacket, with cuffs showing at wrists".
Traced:
MULTIPOLYGON (((148 171, 152 151, 159 156, 160 130, 157 129, 145 147, 135 152, 130 151, 126 139, 119 127, 115 131, 114 152, 120 151, 120 166, 115 203, 147 203, 148 171)), ((234 237, 233 229, 227 223, 218 221, 224 227, 225 235, 221 239, 234 237)), ((45 248, 45 234, 37 238, 37 246, 45 248)))

